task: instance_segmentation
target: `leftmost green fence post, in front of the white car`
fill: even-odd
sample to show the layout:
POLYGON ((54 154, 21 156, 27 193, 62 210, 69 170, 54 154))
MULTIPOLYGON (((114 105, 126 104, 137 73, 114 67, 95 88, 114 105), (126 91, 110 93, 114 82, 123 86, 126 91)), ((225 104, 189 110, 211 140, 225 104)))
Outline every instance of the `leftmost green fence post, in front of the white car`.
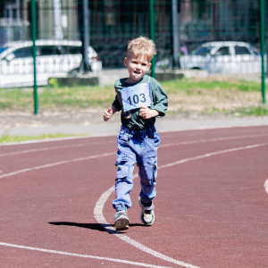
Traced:
POLYGON ((32 33, 32 55, 34 75, 34 113, 38 114, 38 82, 37 82, 37 10, 36 0, 31 0, 31 33, 32 33))

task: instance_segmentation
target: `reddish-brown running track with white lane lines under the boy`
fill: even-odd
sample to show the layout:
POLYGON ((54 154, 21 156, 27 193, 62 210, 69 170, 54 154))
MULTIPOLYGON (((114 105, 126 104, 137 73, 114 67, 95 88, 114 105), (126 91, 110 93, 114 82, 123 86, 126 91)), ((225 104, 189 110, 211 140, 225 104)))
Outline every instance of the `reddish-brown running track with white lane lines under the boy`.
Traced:
POLYGON ((161 133, 155 224, 139 222, 134 175, 121 233, 115 137, 0 146, 1 267, 268 267, 267 133, 161 133))

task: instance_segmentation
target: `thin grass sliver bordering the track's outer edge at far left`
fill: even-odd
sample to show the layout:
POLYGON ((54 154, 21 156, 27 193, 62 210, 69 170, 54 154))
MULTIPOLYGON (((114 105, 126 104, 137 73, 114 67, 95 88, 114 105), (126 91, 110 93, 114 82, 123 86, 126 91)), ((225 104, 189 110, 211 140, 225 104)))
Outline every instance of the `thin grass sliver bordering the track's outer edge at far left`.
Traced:
POLYGON ((0 144, 13 143, 13 142, 21 142, 28 140, 40 140, 40 139, 50 139, 50 138, 66 138, 66 137, 77 137, 80 135, 65 135, 65 134, 47 134, 40 136, 10 136, 3 135, 0 136, 0 144))

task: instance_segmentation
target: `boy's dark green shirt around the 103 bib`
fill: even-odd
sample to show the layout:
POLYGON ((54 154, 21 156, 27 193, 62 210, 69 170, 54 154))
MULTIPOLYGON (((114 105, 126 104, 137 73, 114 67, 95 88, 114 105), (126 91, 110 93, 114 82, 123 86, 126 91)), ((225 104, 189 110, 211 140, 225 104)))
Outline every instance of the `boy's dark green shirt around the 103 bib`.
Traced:
POLYGON ((149 119, 143 119, 139 116, 139 109, 131 110, 131 117, 129 119, 123 116, 122 111, 122 101, 121 101, 121 89, 127 87, 133 87, 140 83, 148 83, 150 82, 151 89, 151 98, 152 98, 152 106, 149 107, 152 110, 156 110, 159 112, 157 117, 163 117, 167 107, 168 107, 168 96, 165 94, 163 88, 159 84, 157 80, 152 77, 145 75, 142 80, 138 81, 138 83, 130 84, 125 81, 126 79, 116 80, 114 83, 114 88, 116 92, 115 99, 113 101, 113 106, 116 107, 118 111, 121 111, 121 124, 132 130, 147 130, 155 125, 155 117, 149 119))

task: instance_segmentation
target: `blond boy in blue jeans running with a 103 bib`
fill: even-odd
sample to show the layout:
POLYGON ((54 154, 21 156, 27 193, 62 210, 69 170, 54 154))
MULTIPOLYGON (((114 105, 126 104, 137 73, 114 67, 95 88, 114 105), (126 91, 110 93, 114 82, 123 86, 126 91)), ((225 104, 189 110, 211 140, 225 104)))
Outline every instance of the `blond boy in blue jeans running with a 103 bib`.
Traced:
POLYGON ((121 130, 117 137, 118 170, 115 180, 113 208, 116 230, 129 229, 127 210, 131 206, 130 191, 133 187, 134 164, 138 165, 141 191, 138 203, 140 220, 146 225, 155 222, 154 204, 157 177, 157 148, 160 138, 155 130, 155 117, 163 117, 168 106, 168 97, 161 85, 146 75, 151 60, 156 54, 155 43, 149 38, 136 38, 129 42, 124 65, 129 78, 116 80, 112 107, 104 113, 108 121, 113 113, 121 111, 121 130))

